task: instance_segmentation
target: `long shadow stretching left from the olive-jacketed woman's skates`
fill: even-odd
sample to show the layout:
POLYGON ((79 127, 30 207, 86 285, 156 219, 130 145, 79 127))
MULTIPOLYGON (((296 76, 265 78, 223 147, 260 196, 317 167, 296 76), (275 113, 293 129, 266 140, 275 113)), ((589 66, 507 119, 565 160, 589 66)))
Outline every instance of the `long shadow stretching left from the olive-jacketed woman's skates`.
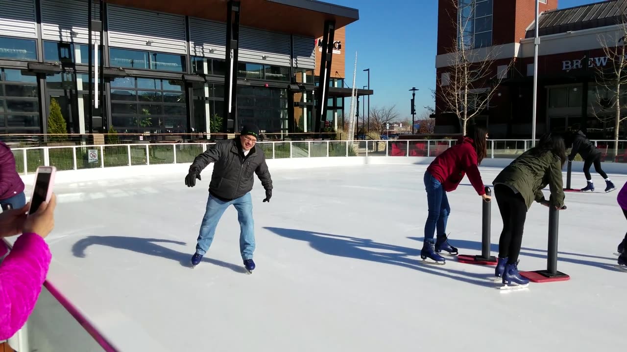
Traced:
MULTIPOLYGON (((495 287, 493 282, 487 280, 488 277, 490 277, 489 272, 485 274, 475 274, 472 272, 449 269, 446 266, 430 265, 421 262, 421 248, 394 246, 392 244, 374 242, 371 239, 332 235, 322 232, 283 229, 280 227, 264 227, 264 229, 270 230, 274 234, 288 239, 307 241, 312 248, 324 254, 329 254, 330 256, 391 264, 478 286, 495 287)), ((447 261, 455 260, 452 257, 445 258, 447 261)))

